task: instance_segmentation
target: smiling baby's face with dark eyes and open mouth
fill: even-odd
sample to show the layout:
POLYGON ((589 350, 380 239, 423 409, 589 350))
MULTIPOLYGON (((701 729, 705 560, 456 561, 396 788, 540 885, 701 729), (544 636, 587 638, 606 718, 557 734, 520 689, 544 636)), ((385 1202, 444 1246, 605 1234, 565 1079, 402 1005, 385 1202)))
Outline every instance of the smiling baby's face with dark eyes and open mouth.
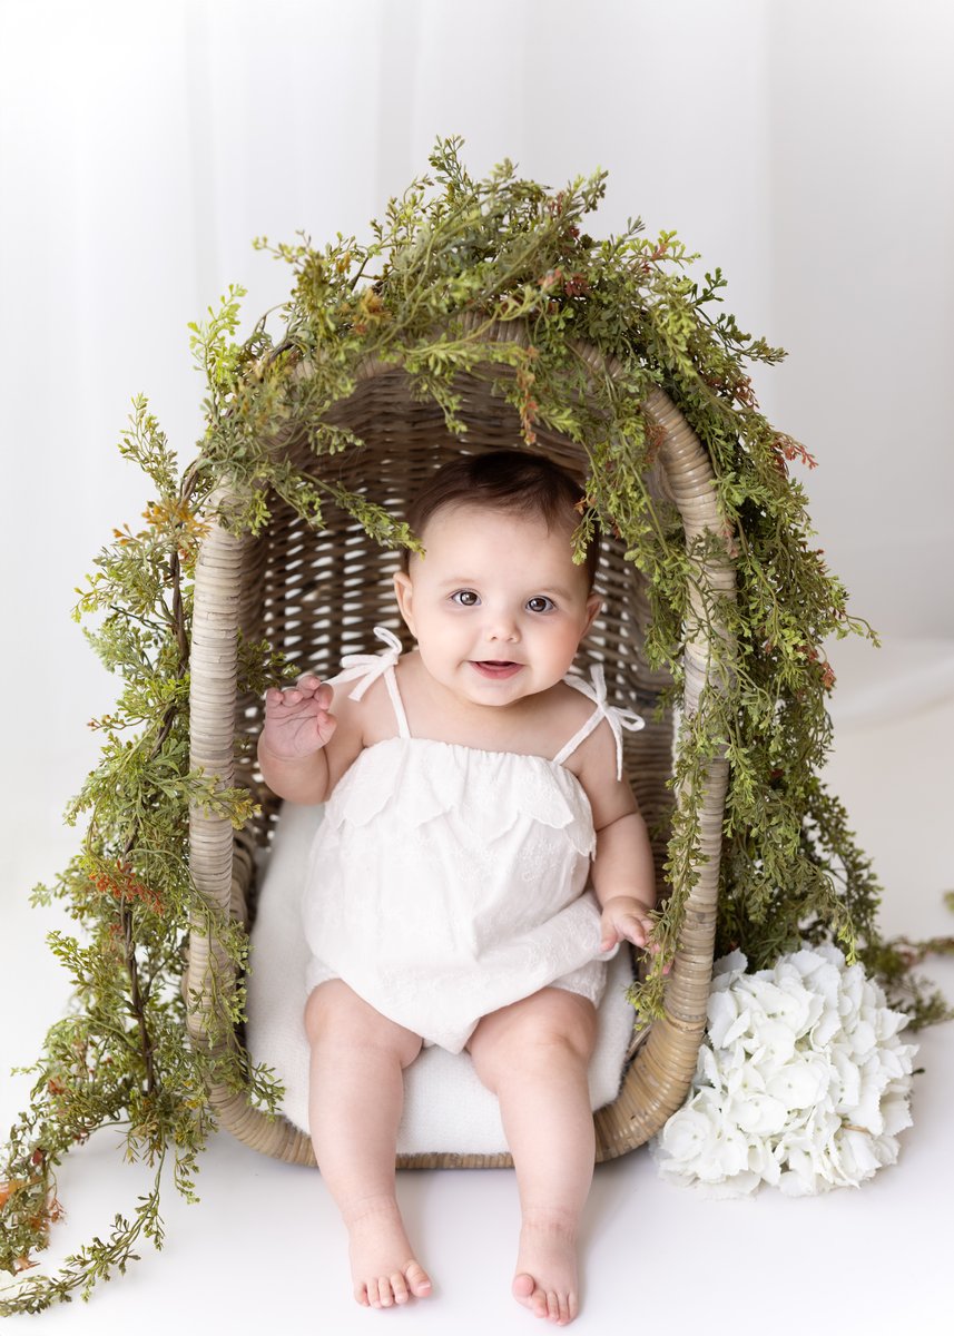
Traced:
POLYGON ((412 556, 394 587, 430 676, 480 705, 560 681, 600 611, 569 529, 456 505, 438 510, 421 540, 426 556, 412 556))

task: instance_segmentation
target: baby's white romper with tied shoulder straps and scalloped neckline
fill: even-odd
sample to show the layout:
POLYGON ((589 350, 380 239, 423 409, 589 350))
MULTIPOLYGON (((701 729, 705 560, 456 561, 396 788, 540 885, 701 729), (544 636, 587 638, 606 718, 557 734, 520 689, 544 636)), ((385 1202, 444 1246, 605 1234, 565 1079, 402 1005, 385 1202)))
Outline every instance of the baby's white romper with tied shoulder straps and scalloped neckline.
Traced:
POLYGON ((343 979, 382 1015, 460 1053, 481 1017, 552 985, 597 1005, 605 986, 600 911, 587 890, 596 834, 564 762, 605 719, 621 772, 621 729, 603 671, 564 680, 595 701, 549 760, 412 737, 394 665, 401 643, 350 655, 331 684, 383 676, 397 736, 365 748, 325 807, 303 895, 309 991, 343 979))

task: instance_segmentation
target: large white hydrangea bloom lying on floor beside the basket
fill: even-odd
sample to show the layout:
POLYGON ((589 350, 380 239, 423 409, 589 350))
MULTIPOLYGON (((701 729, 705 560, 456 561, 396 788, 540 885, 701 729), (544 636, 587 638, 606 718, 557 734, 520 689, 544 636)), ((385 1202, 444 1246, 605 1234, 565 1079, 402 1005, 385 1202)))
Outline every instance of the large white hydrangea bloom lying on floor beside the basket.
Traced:
POLYGON ((911 1124, 907 1017, 834 946, 746 963, 716 963, 691 1096, 652 1145, 660 1174, 718 1197, 858 1186, 911 1124))

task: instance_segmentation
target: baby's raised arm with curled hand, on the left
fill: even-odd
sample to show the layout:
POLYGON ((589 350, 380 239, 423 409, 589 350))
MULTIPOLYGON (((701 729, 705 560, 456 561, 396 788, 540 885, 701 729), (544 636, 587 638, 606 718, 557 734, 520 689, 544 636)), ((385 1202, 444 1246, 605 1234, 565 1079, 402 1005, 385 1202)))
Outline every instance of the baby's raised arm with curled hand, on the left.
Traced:
POLYGON ((258 762, 266 784, 293 803, 323 803, 361 749, 351 712, 330 712, 331 687, 306 673, 295 687, 270 688, 258 762))

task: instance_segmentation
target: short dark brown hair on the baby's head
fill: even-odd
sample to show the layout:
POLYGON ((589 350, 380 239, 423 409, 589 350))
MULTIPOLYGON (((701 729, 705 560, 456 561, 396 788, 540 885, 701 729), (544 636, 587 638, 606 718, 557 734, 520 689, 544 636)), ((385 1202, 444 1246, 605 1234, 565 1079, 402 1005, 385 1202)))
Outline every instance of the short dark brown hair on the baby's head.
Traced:
MULTIPOLYGON (((418 492, 408 508, 408 524, 420 537, 428 521, 445 506, 473 505, 493 510, 514 510, 538 516, 553 525, 568 525, 571 532, 580 521, 579 505, 583 485, 559 464, 542 454, 522 450, 490 450, 488 454, 460 454, 442 465, 418 492)), ((600 542, 587 545, 584 568, 593 588, 600 562, 600 542)), ((410 566, 410 550, 401 553, 401 568, 410 566)))

